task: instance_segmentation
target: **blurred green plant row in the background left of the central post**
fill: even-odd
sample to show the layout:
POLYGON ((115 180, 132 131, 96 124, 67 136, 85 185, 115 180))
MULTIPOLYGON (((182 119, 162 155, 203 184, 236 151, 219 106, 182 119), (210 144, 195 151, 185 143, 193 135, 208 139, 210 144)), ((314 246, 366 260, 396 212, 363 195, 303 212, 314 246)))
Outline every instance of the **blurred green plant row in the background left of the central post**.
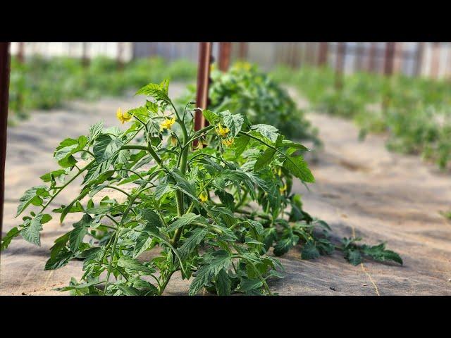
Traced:
POLYGON ((70 99, 98 99, 136 91, 149 80, 190 81, 196 65, 187 60, 168 63, 161 57, 139 58, 122 67, 113 58, 98 56, 84 66, 79 58, 33 56, 25 63, 11 59, 10 117, 25 118, 33 109, 51 109, 70 99))

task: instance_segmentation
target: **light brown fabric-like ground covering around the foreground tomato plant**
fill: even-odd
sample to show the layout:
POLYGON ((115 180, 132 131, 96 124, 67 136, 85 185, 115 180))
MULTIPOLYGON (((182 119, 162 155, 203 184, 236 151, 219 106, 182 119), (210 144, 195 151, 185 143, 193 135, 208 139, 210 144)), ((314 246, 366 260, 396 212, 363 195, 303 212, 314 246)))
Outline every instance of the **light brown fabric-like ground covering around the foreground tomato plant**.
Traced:
MULTIPOLYGON (((182 88, 171 85, 173 94, 182 88)), ((52 152, 61 139, 85 134, 99 119, 117 125, 118 106, 140 104, 140 97, 78 102, 60 111, 32 114, 30 120, 10 128, 4 231, 18 225, 13 215, 25 189, 39 184, 39 176, 56 167, 52 152)), ((286 277, 271 288, 290 295, 451 294, 451 223, 438 213, 451 207, 451 176, 419 158, 389 153, 382 137, 370 135, 359 143, 357 128, 348 121, 317 114, 308 118, 319 127, 324 149, 311 165, 316 184, 310 191, 301 184, 295 187, 303 194, 304 208, 328 221, 336 239, 355 232, 369 244, 388 242, 388 249, 401 254, 404 266, 365 262, 354 267, 339 253, 301 261, 299 249, 292 249, 281 258, 286 277)), ((73 197, 76 187, 61 194, 55 206, 73 197)), ((54 272, 42 270, 54 239, 74 221, 46 224, 39 248, 14 240, 1 255, 0 294, 61 294, 51 289, 67 284, 71 276, 80 277, 81 262, 54 272)), ((174 275, 166 294, 186 294, 187 287, 180 275, 174 275)))

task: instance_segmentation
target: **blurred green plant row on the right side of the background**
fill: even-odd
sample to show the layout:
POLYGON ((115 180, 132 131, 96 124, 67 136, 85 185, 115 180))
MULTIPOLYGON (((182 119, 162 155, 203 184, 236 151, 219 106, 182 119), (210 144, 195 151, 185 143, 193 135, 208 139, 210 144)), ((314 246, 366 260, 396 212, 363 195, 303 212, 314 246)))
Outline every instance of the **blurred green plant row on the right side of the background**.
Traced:
POLYGON ((451 82, 422 77, 354 73, 336 87, 330 68, 279 67, 278 81, 295 84, 311 108, 352 118, 367 132, 387 132, 390 150, 419 154, 446 168, 451 159, 451 82), (338 89, 337 89, 338 88, 338 89))

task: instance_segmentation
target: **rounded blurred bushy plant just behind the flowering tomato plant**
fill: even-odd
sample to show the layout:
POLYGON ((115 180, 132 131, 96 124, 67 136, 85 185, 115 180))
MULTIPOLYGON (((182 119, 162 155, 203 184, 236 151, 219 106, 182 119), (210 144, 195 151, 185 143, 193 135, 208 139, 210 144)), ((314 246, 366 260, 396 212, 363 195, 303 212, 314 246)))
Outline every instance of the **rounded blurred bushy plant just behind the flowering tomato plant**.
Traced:
MULTIPOLYGON (((185 95, 178 99, 181 107, 195 98, 196 87, 187 87, 185 95)), ((319 146, 318 131, 297 108, 288 92, 273 78, 259 70, 255 64, 235 62, 227 72, 212 66, 209 87, 209 109, 229 110, 247 115, 255 123, 264 123, 278 128, 292 139, 310 140, 319 146)))

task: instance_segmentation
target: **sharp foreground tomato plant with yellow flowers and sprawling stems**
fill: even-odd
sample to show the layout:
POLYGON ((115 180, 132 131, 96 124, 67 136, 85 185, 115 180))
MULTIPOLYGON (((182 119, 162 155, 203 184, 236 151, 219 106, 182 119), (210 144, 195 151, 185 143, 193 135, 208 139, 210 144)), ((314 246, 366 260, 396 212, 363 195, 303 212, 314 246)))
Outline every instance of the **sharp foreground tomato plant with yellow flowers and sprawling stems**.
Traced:
POLYGON ((52 218, 47 208, 63 189, 83 177, 81 192, 56 208, 81 218, 56 239, 46 270, 83 261, 81 280, 61 291, 77 295, 161 295, 173 273, 218 295, 273 294, 269 283, 283 277, 275 256, 294 246, 303 259, 341 251, 357 265, 364 257, 402 264, 385 244, 358 244, 359 238, 330 236, 323 220, 303 210, 294 180, 314 182, 303 154, 308 149, 285 139, 278 128, 252 124, 228 110, 202 111, 209 125, 194 130, 194 101, 177 108, 168 81, 150 83, 138 108, 117 118, 130 127, 97 123, 87 135, 65 139, 54 158, 59 168, 28 189, 17 215, 30 214, 1 242, 14 237, 40 245, 52 218), (197 145, 194 145, 197 144, 197 145), (97 198, 104 189, 117 196, 97 198), (146 253, 151 251, 152 255, 146 253))

